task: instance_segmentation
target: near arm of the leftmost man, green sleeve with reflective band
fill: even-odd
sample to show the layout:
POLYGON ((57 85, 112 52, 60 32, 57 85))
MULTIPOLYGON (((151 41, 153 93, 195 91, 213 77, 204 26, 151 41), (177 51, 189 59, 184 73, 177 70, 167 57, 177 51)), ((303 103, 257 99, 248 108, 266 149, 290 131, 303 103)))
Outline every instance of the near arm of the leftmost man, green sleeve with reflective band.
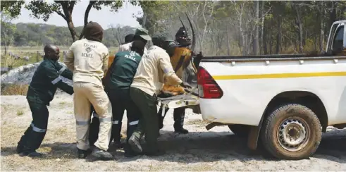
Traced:
POLYGON ((73 94, 73 87, 68 85, 66 82, 63 82, 61 75, 59 75, 57 68, 53 63, 47 63, 43 66, 44 73, 46 74, 47 80, 51 82, 55 87, 60 88, 68 94, 73 94))

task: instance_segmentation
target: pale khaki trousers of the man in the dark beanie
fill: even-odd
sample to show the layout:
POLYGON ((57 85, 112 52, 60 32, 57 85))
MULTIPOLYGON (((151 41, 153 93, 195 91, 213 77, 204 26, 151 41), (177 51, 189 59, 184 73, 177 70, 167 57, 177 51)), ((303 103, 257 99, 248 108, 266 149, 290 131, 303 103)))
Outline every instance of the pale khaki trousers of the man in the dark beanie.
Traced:
POLYGON ((111 139, 112 107, 104 88, 89 82, 73 84, 78 149, 89 149, 90 106, 99 115, 99 138, 94 143, 99 149, 108 150, 111 139))

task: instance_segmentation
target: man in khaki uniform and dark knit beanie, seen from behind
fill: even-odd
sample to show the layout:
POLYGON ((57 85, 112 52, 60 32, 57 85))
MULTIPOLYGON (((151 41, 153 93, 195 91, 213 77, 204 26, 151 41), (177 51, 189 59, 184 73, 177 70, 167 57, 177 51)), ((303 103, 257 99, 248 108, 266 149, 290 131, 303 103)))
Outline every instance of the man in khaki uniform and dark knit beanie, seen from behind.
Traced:
POLYGON ((85 158, 91 152, 89 149, 90 106, 94 106, 99 115, 99 137, 94 143, 93 156, 109 160, 113 156, 107 152, 111 137, 111 103, 101 79, 106 73, 109 49, 101 43, 102 27, 95 22, 88 23, 85 28, 85 39, 74 42, 64 63, 73 70, 73 97, 78 157, 85 158))

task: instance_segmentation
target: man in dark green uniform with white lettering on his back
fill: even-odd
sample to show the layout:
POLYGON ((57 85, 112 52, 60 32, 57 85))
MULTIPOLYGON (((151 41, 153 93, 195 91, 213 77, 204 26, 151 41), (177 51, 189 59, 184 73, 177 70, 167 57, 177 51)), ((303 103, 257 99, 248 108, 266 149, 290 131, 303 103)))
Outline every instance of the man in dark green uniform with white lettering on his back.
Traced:
POLYGON ((109 68, 109 75, 106 80, 108 81, 107 89, 109 90, 109 99, 111 100, 112 112, 113 112, 113 130, 112 136, 115 142, 120 142, 120 133, 117 126, 123 119, 124 111, 126 110, 126 116, 128 117, 128 130, 127 140, 125 148, 125 156, 135 156, 135 152, 128 146, 128 138, 137 128, 137 124, 140 118, 140 110, 137 108, 134 102, 130 98, 130 85, 133 80, 133 76, 136 73, 137 66, 142 59, 144 53, 144 42, 134 41, 132 42, 130 51, 120 51, 116 54, 116 57, 109 68))

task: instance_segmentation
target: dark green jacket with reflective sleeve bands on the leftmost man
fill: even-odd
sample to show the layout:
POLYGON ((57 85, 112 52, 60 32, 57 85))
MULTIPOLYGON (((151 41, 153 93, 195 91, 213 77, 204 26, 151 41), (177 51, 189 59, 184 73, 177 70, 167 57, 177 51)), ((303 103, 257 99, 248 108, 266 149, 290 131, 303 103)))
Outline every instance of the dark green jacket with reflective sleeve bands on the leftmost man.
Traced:
POLYGON ((32 76, 27 90, 27 99, 49 105, 54 98, 56 88, 73 94, 73 87, 63 82, 61 76, 72 80, 73 73, 68 68, 61 66, 58 61, 44 59, 32 76))

